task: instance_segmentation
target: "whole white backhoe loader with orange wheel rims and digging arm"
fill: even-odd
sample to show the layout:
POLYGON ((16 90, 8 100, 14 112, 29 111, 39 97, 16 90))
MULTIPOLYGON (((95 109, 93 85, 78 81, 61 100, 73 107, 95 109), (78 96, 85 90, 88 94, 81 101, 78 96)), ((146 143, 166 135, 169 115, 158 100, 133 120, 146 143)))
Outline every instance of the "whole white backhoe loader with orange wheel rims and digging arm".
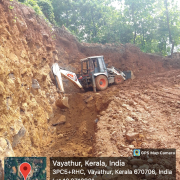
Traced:
POLYGON ((69 107, 68 97, 65 96, 62 76, 69 79, 80 89, 93 87, 99 91, 105 90, 109 84, 121 84, 124 80, 131 79, 131 71, 120 71, 114 67, 107 68, 103 56, 92 56, 81 59, 81 74, 63 70, 57 63, 52 65, 52 73, 56 80, 56 86, 60 93, 60 98, 56 101, 56 106, 60 108, 69 107))

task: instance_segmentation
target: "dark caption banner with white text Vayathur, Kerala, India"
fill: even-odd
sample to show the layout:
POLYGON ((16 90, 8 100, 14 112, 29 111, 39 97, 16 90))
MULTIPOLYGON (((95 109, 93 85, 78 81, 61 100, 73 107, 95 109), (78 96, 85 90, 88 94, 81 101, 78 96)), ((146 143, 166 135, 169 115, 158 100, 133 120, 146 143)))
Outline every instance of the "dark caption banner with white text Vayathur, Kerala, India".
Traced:
POLYGON ((52 157, 51 180, 176 180, 175 149, 134 149, 133 157, 52 157))

